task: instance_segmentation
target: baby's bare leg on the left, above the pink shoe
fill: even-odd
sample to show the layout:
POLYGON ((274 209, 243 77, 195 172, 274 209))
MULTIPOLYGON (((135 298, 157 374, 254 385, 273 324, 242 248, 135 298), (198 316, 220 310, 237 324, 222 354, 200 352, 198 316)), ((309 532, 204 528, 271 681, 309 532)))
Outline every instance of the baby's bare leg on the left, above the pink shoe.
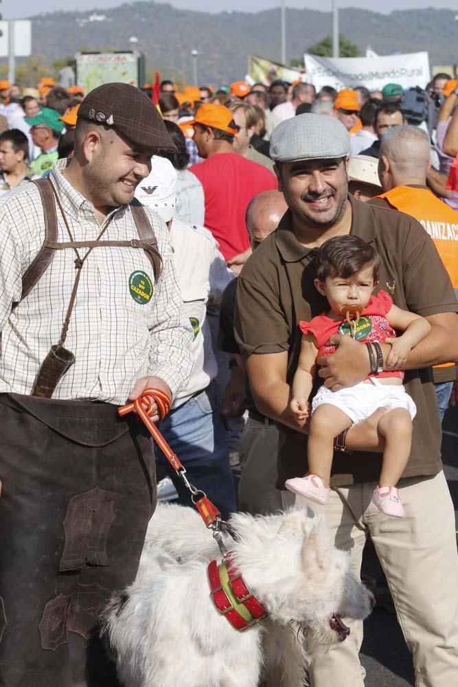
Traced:
POLYGON ((335 405, 323 403, 310 419, 308 431, 308 471, 318 475, 328 486, 331 477, 334 439, 352 425, 352 420, 335 405))

